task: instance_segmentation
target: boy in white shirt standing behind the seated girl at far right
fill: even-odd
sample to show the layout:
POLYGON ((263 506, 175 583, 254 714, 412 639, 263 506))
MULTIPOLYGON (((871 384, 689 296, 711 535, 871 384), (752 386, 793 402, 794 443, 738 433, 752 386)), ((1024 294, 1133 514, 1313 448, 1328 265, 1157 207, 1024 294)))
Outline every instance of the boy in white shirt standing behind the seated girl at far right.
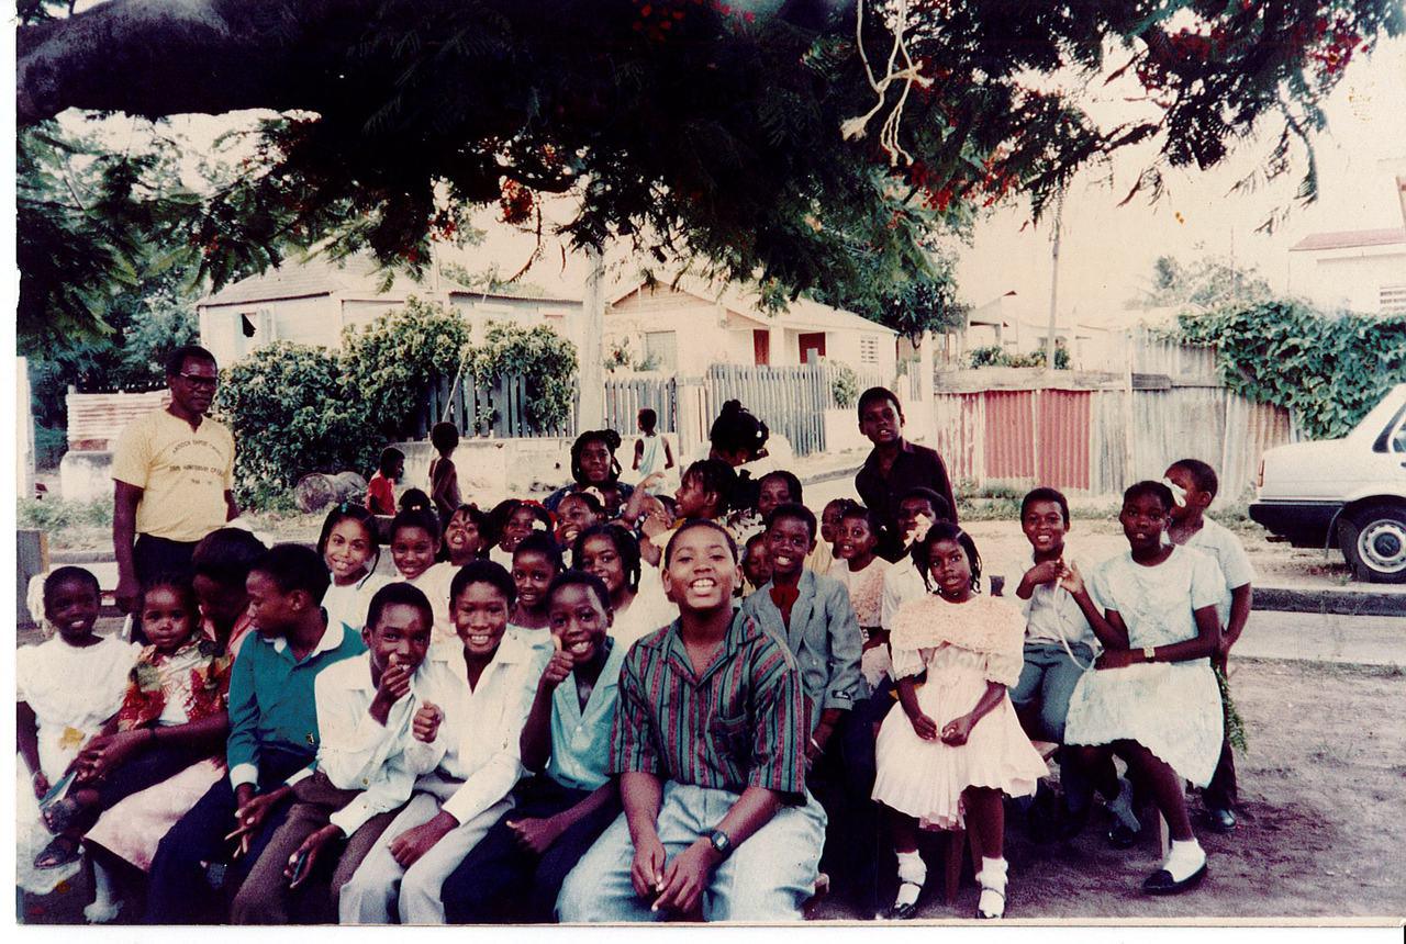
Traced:
MULTIPOLYGON (((1254 603, 1254 590, 1250 586, 1254 580, 1254 568, 1240 539, 1225 525, 1205 517, 1220 487, 1215 469, 1199 459, 1177 459, 1167 468, 1164 482, 1177 500, 1171 510, 1171 525, 1167 528, 1171 542, 1209 553, 1220 565, 1220 573, 1226 579, 1225 596, 1216 605, 1225 629, 1220 634, 1220 650, 1212 659, 1212 664, 1223 676, 1230 646, 1240 638, 1250 618, 1250 607, 1254 603)), ((1236 826, 1236 775, 1229 729, 1225 743, 1220 745, 1220 763, 1216 764, 1216 773, 1201 796, 1206 805, 1211 827, 1219 833, 1232 832, 1236 826)))

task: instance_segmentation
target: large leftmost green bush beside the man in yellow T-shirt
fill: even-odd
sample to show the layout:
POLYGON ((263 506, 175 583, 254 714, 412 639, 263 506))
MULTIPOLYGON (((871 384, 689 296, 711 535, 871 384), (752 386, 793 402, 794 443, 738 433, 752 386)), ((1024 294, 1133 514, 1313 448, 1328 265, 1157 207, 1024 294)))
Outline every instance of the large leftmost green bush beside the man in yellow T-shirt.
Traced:
POLYGON ((276 341, 225 371, 215 402, 235 434, 235 494, 256 503, 308 472, 366 472, 381 442, 368 399, 322 347, 276 341))

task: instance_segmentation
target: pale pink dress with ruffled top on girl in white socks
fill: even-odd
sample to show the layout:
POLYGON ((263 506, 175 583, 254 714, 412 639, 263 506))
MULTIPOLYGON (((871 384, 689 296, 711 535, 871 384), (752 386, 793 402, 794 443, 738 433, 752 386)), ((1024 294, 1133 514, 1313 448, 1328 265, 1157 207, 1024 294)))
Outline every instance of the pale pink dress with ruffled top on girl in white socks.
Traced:
MULTIPOLYGON (((918 707, 941 732, 976 707, 988 681, 1015 684, 1024 636, 1024 617, 1001 600, 973 597, 955 604, 927 596, 904 604, 894 618, 893 676, 904 678, 927 667, 918 707)), ((1028 796, 1049 773, 1005 694, 960 746, 918 738, 900 705, 884 718, 875 752, 875 799, 915 816, 924 829, 963 827, 962 791, 967 787, 1028 796)))

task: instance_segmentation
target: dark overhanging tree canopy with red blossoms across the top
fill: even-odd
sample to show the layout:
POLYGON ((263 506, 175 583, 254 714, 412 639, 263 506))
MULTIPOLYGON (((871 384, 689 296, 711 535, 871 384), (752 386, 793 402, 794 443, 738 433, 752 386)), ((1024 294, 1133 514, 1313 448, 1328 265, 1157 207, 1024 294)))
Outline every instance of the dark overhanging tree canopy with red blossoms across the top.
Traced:
POLYGON ((18 117, 278 111, 191 233, 217 285, 281 239, 423 267, 475 206, 540 230, 543 195, 571 194, 578 243, 633 240, 776 301, 852 298, 876 271, 931 274, 934 228, 1017 195, 1039 214, 1119 148, 1156 143, 1136 188, 1156 195, 1161 164, 1216 164, 1272 114, 1258 176, 1284 173, 1343 66, 1403 22, 1395 0, 904 8, 905 24, 887 0, 110 0, 20 29, 18 117), (890 62, 911 69, 883 81, 890 62), (1136 80, 1146 111, 1098 126, 1050 81, 1080 73, 1136 80))

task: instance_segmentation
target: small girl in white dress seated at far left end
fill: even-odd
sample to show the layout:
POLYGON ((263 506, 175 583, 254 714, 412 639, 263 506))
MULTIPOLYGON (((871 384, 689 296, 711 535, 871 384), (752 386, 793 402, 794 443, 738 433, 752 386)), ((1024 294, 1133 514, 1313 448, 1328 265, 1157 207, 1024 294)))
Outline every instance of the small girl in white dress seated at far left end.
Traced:
POLYGON ((48 893, 77 871, 77 848, 48 868, 30 863, 52 836, 39 801, 75 767, 87 742, 117 714, 127 694, 127 674, 141 646, 93 632, 98 583, 83 568, 58 568, 44 582, 44 620, 53 638, 15 653, 20 743, 17 792, 17 879, 22 889, 48 893))

